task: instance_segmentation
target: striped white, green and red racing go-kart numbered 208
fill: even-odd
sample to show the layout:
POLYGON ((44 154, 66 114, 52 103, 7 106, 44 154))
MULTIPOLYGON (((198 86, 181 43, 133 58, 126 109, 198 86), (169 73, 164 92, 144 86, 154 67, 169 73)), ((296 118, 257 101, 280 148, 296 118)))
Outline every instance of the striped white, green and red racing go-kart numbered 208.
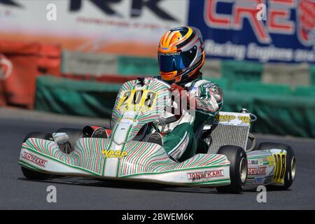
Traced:
MULTIPOLYGON (((245 188, 274 186, 288 189, 295 179, 295 154, 290 146, 262 143, 255 146, 249 132, 251 113, 219 112, 214 121, 197 128, 208 152, 177 161, 162 144, 148 141, 165 118, 170 85, 156 78, 124 83, 113 108, 112 127, 62 128, 25 137, 19 165, 27 179, 83 176, 165 183, 176 186, 215 187, 220 193, 240 193, 245 188), (250 141, 248 141, 250 139, 250 141), (251 146, 248 146, 249 143, 251 146)), ((177 116, 178 117, 178 116, 177 116)))

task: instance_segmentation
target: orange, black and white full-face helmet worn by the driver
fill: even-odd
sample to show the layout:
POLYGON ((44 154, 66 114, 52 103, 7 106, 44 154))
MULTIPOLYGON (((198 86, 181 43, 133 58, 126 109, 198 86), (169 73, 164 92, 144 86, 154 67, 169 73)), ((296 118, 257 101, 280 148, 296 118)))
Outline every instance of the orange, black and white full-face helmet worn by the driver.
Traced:
POLYGON ((185 83, 200 76, 204 41, 195 27, 176 27, 163 34, 158 47, 160 76, 168 83, 185 83))

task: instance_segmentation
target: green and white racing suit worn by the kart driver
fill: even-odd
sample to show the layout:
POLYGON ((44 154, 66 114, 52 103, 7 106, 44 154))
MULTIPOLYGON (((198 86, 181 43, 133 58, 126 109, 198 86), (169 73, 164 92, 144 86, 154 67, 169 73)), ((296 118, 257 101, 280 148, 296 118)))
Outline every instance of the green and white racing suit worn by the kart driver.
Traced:
POLYGON ((179 120, 168 125, 163 137, 165 151, 179 162, 193 157, 197 147, 207 151, 202 139, 195 139, 195 131, 206 120, 213 120, 223 106, 223 91, 219 85, 199 78, 186 83, 186 89, 195 95, 195 113, 183 110, 179 120))

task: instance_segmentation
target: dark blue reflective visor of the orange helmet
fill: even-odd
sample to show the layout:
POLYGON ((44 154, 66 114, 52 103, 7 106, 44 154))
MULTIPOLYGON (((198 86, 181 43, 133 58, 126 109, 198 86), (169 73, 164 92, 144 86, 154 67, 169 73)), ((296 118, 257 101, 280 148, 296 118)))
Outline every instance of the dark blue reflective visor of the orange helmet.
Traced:
POLYGON ((170 72, 186 69, 190 66, 192 58, 186 52, 158 53, 160 71, 170 72))

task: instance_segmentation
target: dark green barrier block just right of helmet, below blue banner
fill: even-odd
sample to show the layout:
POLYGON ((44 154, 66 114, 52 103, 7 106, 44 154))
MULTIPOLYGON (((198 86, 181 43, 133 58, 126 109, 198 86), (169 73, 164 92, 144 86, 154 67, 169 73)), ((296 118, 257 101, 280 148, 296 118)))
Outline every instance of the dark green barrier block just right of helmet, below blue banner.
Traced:
POLYGON ((222 77, 229 80, 229 88, 239 80, 261 80, 263 65, 258 62, 237 62, 223 60, 223 62, 221 62, 221 66, 222 77))

